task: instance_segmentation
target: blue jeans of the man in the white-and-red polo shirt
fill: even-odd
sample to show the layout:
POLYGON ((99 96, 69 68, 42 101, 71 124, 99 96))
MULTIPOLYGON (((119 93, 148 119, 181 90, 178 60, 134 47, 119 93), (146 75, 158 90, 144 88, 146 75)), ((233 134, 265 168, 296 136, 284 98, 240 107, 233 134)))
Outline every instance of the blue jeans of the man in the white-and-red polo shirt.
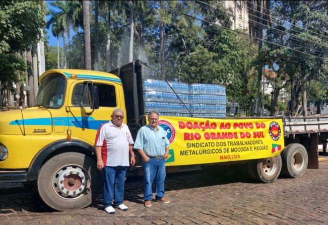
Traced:
POLYGON ((103 201, 105 208, 111 205, 113 199, 115 200, 115 206, 123 203, 125 173, 126 167, 123 166, 104 167, 103 201))

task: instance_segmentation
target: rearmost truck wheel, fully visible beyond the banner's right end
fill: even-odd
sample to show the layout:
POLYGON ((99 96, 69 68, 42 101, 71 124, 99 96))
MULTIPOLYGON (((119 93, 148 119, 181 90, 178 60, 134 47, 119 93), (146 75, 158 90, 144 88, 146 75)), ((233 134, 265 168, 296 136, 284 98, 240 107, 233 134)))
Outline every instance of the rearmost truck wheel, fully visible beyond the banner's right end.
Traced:
POLYGON ((297 178, 304 175, 308 164, 305 147, 299 143, 288 144, 281 154, 282 174, 288 178, 297 178))

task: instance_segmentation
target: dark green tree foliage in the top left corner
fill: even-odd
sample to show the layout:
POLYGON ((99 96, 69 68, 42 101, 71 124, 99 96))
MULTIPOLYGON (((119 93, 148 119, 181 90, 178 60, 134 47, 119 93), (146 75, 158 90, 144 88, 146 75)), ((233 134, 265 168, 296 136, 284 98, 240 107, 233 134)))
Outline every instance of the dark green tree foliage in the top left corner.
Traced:
MULTIPOLYGON (((0 82, 11 86, 26 69, 18 54, 37 43, 45 27, 44 8, 37 1, 0 2, 0 82)), ((24 77, 21 77, 24 80, 24 77)))

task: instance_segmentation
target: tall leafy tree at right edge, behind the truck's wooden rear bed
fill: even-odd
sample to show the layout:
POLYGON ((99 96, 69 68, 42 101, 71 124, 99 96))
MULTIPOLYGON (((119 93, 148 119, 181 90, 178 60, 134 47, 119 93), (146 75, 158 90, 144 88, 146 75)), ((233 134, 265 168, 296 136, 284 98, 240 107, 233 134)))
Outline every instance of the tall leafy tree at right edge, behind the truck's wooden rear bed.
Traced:
POLYGON ((275 93, 287 84, 290 87, 291 115, 299 109, 306 115, 307 87, 322 82, 328 72, 327 5, 326 1, 278 1, 273 5, 273 12, 279 14, 268 30, 263 57, 272 68, 278 65, 275 93))

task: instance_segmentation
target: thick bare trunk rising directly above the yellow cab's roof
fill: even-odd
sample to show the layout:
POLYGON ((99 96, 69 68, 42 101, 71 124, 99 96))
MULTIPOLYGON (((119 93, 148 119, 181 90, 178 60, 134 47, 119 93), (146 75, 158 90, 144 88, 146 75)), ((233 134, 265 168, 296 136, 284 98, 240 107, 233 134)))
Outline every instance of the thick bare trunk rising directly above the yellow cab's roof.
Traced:
POLYGON ((82 4, 83 4, 83 33, 84 33, 84 64, 86 69, 91 69, 89 1, 82 1, 82 4))

